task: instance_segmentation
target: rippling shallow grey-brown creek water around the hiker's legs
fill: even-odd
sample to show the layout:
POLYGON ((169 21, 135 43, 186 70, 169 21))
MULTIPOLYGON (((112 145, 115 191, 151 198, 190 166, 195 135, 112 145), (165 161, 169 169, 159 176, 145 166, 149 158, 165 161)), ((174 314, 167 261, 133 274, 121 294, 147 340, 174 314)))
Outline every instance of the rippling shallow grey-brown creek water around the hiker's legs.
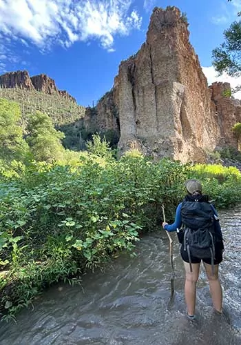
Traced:
MULTIPOLYGON (((24 310, 17 324, 1 324, 1 345, 240 345, 241 209, 220 214, 226 250, 220 268, 224 315, 213 313, 201 271, 194 322, 185 317, 184 270, 174 242, 175 293, 170 299, 169 242, 147 235, 137 257, 123 253, 105 272, 83 277, 82 288, 53 286, 24 310)), ((176 235, 174 235, 174 238, 176 235)))

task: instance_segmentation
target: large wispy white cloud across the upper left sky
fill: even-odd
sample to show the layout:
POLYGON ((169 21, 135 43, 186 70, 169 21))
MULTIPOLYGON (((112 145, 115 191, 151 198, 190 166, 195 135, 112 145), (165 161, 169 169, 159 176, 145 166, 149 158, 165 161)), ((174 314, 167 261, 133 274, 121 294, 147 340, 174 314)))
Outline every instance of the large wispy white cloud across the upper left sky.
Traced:
POLYGON ((0 32, 48 50, 75 41, 98 39, 112 50, 116 34, 140 29, 142 17, 131 10, 134 0, 0 0, 0 32))

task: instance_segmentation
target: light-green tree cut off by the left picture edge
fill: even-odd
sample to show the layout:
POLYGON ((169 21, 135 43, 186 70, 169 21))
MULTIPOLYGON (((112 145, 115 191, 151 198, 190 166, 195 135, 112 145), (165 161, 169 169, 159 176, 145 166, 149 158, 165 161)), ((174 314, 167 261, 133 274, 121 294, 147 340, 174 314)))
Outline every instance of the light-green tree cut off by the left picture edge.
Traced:
POLYGON ((20 126, 19 105, 0 99, 0 159, 21 161, 28 152, 28 144, 23 139, 20 126))

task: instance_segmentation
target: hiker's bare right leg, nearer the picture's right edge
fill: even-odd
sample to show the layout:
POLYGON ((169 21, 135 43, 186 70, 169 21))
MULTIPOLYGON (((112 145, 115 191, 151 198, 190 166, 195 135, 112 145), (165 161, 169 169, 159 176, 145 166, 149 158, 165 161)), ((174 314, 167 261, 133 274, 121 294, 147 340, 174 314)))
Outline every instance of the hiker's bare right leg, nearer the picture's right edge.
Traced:
POLYGON ((213 307, 219 313, 222 313, 222 288, 220 280, 218 279, 218 265, 214 265, 214 275, 212 273, 211 265, 205 264, 207 279, 209 279, 209 288, 211 298, 213 300, 213 307))

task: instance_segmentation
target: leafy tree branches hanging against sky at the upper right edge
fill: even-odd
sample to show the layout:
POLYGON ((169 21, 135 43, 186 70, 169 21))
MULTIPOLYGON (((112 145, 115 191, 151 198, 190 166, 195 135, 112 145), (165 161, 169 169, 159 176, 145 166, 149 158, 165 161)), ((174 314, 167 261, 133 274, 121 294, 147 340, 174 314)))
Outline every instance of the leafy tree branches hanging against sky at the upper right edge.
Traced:
MULTIPOLYGON (((231 0, 228 0, 231 1, 231 0)), ((238 12, 238 16, 241 12, 238 12)), ((220 74, 238 76, 241 73, 241 21, 234 21, 224 30, 224 42, 213 50, 213 66, 220 74)))

